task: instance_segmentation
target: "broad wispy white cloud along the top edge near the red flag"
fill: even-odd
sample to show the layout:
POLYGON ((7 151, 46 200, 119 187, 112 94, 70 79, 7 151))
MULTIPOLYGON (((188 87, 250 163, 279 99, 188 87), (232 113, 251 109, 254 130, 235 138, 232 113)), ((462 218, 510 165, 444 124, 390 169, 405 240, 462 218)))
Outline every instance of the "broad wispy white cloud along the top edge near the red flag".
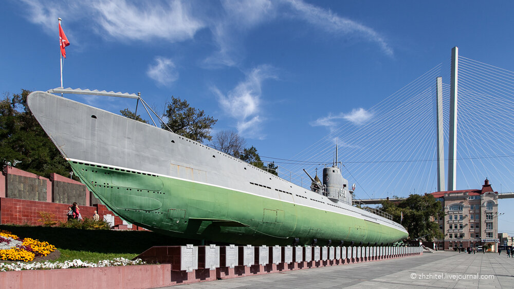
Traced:
MULTIPOLYGON (((96 32, 106 39, 117 41, 138 40, 151 42, 163 39, 180 42, 193 38, 196 31, 205 27, 203 21, 192 15, 189 2, 125 0, 89 2, 61 2, 52 0, 22 0, 27 7, 27 19, 56 33, 57 17, 63 21, 83 22, 96 27, 96 32)), ((66 31, 69 31, 65 28, 66 31)))

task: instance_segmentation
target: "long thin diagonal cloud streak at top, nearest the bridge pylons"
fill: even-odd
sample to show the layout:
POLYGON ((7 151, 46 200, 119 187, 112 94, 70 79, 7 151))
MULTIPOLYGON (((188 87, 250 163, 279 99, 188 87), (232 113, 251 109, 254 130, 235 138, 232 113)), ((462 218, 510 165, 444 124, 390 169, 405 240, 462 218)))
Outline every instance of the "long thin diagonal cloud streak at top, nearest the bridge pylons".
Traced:
POLYGON ((310 24, 316 25, 332 33, 350 34, 356 33, 370 41, 378 43, 382 51, 390 56, 393 49, 384 38, 370 27, 359 24, 348 18, 341 17, 336 13, 307 4, 301 0, 283 0, 297 12, 297 16, 310 24))

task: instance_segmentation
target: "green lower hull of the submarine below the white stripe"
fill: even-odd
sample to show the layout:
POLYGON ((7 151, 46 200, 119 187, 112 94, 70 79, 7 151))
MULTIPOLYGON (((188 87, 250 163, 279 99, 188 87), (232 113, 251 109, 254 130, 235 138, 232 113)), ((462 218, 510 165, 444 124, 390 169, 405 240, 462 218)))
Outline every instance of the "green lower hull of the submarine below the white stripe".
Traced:
POLYGON ((386 225, 227 188, 71 162, 75 174, 112 211, 162 234, 252 245, 388 244, 407 233, 386 225))

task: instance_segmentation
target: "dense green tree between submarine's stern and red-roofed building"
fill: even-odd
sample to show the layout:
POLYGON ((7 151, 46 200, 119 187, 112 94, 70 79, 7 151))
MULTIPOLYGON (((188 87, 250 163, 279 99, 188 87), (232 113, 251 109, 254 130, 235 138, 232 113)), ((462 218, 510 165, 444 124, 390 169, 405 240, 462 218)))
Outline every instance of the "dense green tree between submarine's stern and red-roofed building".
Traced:
POLYGON ((400 223, 401 213, 403 221, 401 224, 409 232, 410 239, 417 239, 425 236, 428 241, 432 239, 444 239, 444 234, 439 229, 438 220, 444 216, 444 210, 440 202, 430 195, 410 195, 409 198, 395 202, 394 200, 383 201, 380 208, 393 216, 393 221, 400 223))

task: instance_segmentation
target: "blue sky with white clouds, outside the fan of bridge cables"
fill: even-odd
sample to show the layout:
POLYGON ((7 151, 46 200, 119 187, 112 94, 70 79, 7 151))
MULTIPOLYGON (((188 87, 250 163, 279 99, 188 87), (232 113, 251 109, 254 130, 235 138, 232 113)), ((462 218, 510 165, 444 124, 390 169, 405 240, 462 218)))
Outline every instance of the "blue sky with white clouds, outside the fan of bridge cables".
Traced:
MULTIPOLYGON (((447 65, 453 46, 471 59, 514 70, 514 3, 507 1, 0 5, 0 92, 60 86, 61 17, 71 43, 65 87, 140 91, 159 111, 171 95, 186 99, 218 119, 214 132, 236 130, 268 157, 292 158, 331 126, 365 121, 370 107, 447 65)), ((77 99, 113 112, 135 108, 134 101, 77 99)), ((475 183, 480 188, 483 179, 475 183)), ((502 204, 514 202, 501 201, 506 211, 502 204)), ((513 225, 500 223, 500 229, 514 233, 513 225)))

